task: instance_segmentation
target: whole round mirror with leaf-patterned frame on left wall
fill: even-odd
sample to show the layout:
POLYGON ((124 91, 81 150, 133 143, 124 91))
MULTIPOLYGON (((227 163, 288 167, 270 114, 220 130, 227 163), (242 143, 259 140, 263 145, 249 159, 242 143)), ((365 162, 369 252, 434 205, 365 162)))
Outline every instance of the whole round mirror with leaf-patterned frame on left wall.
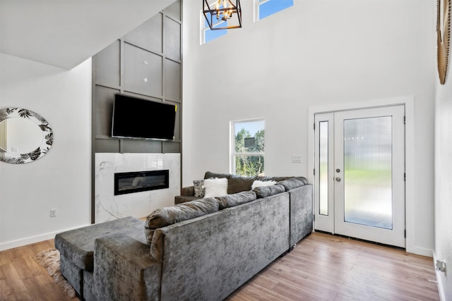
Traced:
POLYGON ((22 164, 47 154, 54 140, 49 123, 27 109, 0 110, 0 160, 22 164))

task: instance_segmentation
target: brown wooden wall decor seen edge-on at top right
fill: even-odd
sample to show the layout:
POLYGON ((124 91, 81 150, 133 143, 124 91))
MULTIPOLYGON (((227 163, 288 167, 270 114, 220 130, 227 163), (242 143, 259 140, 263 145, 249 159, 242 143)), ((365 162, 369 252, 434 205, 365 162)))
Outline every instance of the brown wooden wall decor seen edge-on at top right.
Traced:
POLYGON ((436 2, 436 46, 439 82, 444 85, 448 68, 451 37, 451 0, 436 2))

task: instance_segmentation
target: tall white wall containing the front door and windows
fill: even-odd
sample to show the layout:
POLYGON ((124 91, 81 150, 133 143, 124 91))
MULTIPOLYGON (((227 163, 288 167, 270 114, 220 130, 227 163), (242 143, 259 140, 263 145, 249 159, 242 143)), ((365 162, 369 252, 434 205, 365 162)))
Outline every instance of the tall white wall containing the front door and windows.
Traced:
POLYGON ((310 176, 311 106, 414 98, 407 250, 434 247, 435 1, 302 1, 199 45, 201 7, 184 1, 182 185, 229 171, 229 122, 266 120, 266 174, 310 176), (291 156, 302 156, 292 164, 291 156))

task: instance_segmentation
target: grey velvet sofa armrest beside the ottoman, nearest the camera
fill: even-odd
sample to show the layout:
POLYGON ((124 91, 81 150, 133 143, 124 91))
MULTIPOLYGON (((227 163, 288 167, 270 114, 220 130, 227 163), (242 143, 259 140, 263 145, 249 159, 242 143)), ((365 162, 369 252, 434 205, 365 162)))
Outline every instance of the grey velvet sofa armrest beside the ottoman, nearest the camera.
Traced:
POLYGON ((94 266, 97 300, 160 300, 162 266, 149 245, 124 234, 97 238, 94 266))

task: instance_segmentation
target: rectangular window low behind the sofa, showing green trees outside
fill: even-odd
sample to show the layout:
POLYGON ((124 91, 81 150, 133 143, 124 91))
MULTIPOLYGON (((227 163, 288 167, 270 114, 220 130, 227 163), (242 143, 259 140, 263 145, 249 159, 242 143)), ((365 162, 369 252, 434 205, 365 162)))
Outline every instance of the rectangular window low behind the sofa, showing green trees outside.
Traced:
POLYGON ((231 122, 231 173, 263 176, 265 121, 254 119, 231 122))

